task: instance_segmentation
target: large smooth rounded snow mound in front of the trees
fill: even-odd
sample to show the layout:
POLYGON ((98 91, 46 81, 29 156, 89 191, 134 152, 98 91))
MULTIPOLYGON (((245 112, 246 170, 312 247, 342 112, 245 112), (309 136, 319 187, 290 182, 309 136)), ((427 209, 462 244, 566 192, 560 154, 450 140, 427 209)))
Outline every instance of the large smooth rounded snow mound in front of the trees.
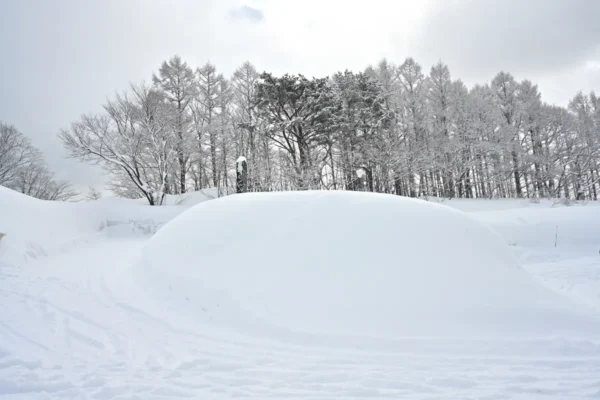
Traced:
POLYGON ((467 214, 385 194, 202 203, 154 235, 138 272, 171 313, 239 330, 551 335, 595 324, 467 214))

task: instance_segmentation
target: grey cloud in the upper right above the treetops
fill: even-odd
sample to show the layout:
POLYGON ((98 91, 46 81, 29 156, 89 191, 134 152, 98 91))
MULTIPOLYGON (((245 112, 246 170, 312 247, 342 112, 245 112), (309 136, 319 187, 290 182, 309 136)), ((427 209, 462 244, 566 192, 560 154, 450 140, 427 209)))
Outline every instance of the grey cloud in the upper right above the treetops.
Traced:
POLYGON ((600 49, 600 2, 438 0, 412 38, 422 62, 481 79, 500 70, 534 74, 580 65, 600 49))

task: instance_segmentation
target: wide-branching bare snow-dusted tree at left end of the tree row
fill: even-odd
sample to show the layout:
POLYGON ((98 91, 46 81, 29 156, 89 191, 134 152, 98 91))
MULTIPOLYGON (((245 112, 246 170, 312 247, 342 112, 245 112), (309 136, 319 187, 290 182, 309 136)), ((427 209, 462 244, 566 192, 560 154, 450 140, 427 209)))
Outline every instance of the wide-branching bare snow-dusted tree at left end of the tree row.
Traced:
POLYGON ((113 177, 113 190, 162 204, 168 172, 181 143, 171 135, 179 123, 162 92, 145 85, 117 95, 98 115, 84 115, 60 138, 71 157, 101 164, 113 177), (136 196, 137 195, 137 196, 136 196))

